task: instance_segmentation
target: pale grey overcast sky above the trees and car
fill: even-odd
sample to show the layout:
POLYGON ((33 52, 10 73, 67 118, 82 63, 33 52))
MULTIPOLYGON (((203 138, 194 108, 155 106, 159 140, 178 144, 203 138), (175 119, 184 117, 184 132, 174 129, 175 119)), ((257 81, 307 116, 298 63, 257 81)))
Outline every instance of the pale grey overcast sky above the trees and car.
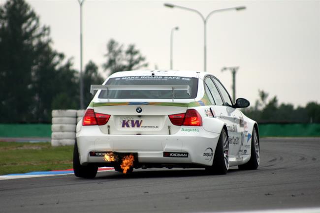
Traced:
MULTIPOLYGON (((0 0, 1 4, 4 0, 0 0)), ((80 68, 80 19, 77 0, 27 0, 50 26, 53 47, 80 68)), ((83 4, 84 66, 93 60, 100 72, 106 43, 114 38, 135 44, 149 69, 170 68, 170 31, 174 32, 173 68, 203 71, 203 22, 194 12, 164 7, 173 3, 200 11, 244 5, 246 10, 213 14, 207 23, 207 72, 217 76, 231 93, 231 73, 240 66, 236 96, 253 104, 258 89, 279 102, 304 106, 320 102, 320 1, 109 1, 83 4)), ((89 91, 88 91, 89 92, 89 91)))

